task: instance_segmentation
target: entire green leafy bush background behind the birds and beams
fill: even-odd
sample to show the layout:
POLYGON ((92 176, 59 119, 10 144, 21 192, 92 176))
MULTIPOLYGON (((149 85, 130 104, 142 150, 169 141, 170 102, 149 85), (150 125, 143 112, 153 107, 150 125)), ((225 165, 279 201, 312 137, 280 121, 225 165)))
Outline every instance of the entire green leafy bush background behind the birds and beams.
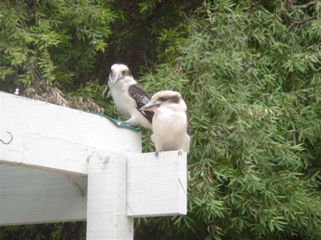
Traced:
MULTIPOLYGON (((135 239, 321 239, 320 12, 294 0, 5 0, 0 90, 55 87, 116 116, 106 79, 121 62, 149 93, 182 93, 188 215, 137 219, 135 239)), ((85 231, 6 226, 0 239, 85 231)))

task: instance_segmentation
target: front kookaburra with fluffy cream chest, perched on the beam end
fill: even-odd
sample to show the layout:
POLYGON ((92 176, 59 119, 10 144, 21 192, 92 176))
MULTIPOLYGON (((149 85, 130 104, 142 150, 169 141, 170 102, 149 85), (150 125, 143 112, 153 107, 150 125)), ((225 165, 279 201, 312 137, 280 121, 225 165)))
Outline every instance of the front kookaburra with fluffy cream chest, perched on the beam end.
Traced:
POLYGON ((188 152, 190 135, 186 104, 178 92, 164 90, 155 93, 151 101, 141 110, 153 111, 152 140, 156 147, 156 156, 161 151, 181 150, 188 152))

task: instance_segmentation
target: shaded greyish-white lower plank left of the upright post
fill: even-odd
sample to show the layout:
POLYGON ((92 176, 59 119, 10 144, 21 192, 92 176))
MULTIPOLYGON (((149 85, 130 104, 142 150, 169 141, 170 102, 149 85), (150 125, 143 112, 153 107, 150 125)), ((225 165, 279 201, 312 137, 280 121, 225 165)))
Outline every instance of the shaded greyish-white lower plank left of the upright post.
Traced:
POLYGON ((85 220, 86 191, 87 177, 0 165, 0 226, 85 220))

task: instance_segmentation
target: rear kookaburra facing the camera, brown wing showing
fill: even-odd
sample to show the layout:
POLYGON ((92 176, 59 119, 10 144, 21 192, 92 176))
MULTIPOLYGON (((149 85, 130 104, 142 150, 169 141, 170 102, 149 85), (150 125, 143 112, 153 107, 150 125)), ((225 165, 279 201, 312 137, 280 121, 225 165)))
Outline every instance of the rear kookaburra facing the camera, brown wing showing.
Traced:
POLYGON ((150 97, 136 80, 133 79, 131 71, 124 64, 113 64, 109 74, 108 86, 111 96, 118 110, 123 113, 126 122, 131 122, 141 127, 152 129, 151 121, 153 112, 142 112, 139 110, 149 102, 150 97))

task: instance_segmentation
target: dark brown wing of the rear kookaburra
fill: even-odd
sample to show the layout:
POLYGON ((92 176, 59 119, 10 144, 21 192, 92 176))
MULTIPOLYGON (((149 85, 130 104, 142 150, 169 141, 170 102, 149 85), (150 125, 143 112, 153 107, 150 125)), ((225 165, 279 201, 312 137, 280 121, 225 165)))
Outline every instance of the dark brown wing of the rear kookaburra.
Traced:
MULTIPOLYGON (((131 85, 131 87, 128 88, 128 93, 136 101, 138 110, 151 100, 148 93, 146 93, 146 91, 143 90, 143 88, 141 88, 141 86, 138 84, 131 85)), ((141 111, 141 113, 144 115, 145 118, 147 118, 149 122, 152 122, 154 115, 153 112, 141 111)))

